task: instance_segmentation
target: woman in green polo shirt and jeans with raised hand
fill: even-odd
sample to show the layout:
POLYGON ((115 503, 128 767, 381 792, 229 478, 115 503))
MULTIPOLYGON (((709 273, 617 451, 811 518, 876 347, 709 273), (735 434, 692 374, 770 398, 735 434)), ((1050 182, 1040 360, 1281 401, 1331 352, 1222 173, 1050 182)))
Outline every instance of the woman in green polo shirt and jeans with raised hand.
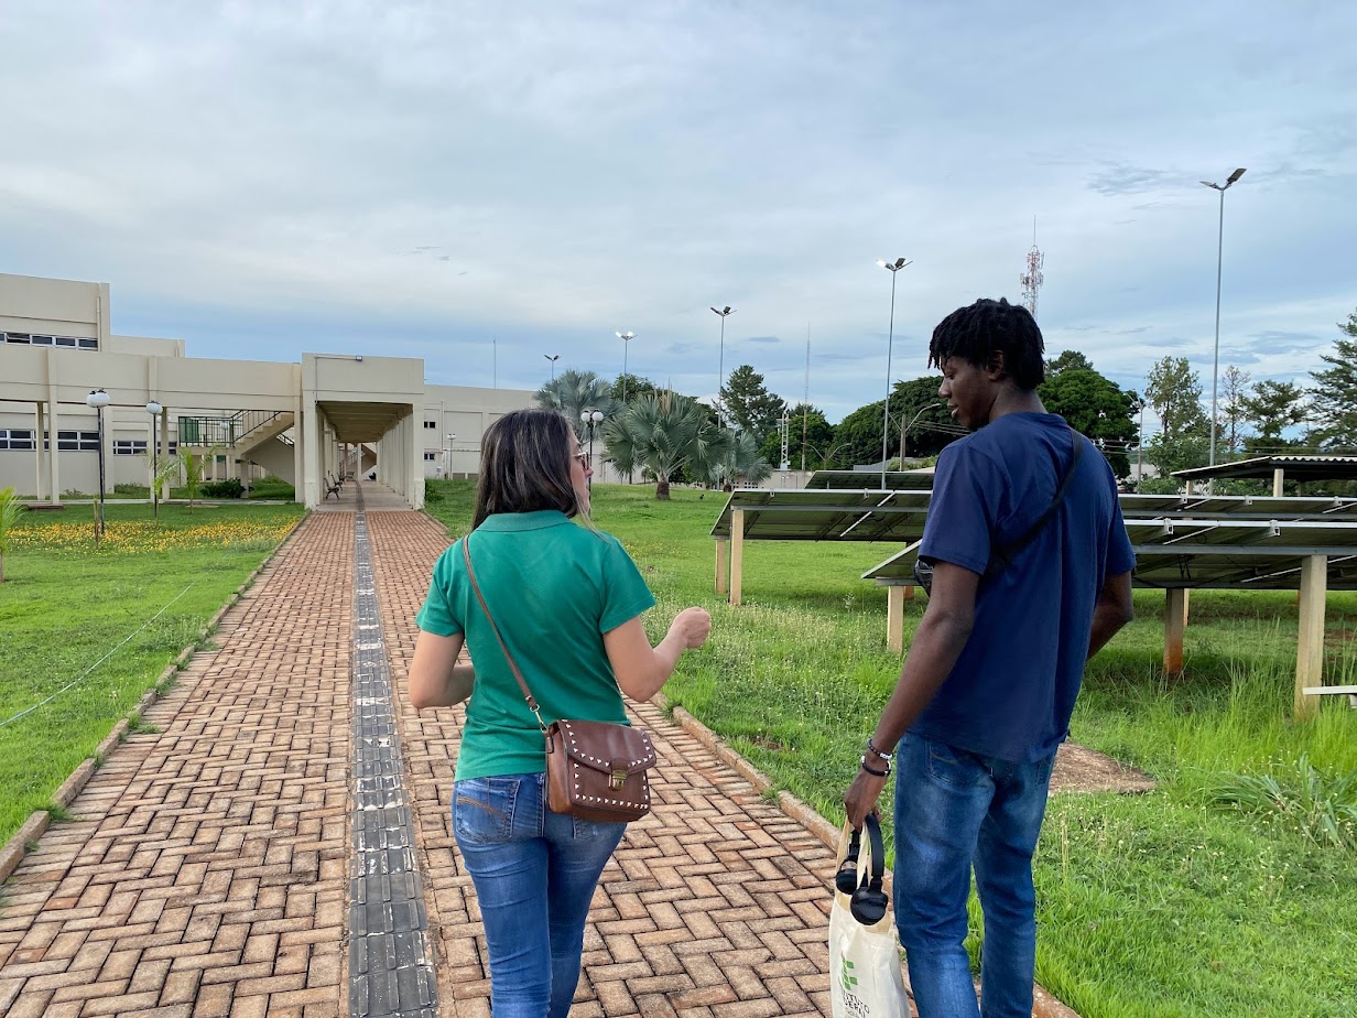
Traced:
MULTIPOLYGON (((627 723, 622 694, 649 700, 711 628, 706 611, 685 608, 650 646, 641 614, 655 599, 616 538, 589 521, 589 476, 560 414, 506 414, 486 430, 472 533, 463 539, 548 723, 627 723)), ((490 1006, 495 1018, 565 1018, 589 900, 626 824, 546 808, 541 729, 471 589, 461 542, 434 566, 417 622, 410 702, 448 707, 470 696, 452 821, 486 927, 490 1006), (475 671, 456 664, 463 643, 475 671)))

